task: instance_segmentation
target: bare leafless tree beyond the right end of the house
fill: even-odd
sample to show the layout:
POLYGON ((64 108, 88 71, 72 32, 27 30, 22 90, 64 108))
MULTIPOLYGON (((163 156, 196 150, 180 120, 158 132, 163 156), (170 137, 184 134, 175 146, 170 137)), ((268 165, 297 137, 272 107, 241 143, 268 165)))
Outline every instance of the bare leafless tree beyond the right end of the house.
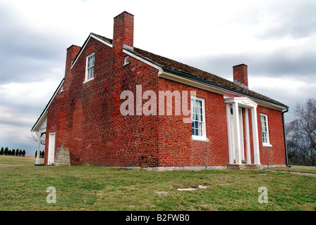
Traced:
POLYGON ((286 124, 288 160, 293 165, 316 166, 316 100, 296 105, 296 119, 286 124))

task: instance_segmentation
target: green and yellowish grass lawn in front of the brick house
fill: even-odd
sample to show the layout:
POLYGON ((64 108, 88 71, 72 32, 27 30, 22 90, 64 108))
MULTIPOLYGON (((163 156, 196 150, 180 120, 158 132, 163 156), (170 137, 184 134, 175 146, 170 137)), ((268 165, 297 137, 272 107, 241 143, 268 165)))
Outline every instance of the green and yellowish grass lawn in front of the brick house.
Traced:
MULTIPOLYGON (((150 172, 34 163, 35 158, 0 156, 0 210, 316 210, 316 176, 267 169, 150 172), (209 187, 177 191, 199 185, 209 187), (56 188, 56 203, 47 203, 50 186, 56 188), (267 187, 267 204, 258 203, 260 186, 267 187)), ((277 169, 316 174, 315 167, 277 169)))

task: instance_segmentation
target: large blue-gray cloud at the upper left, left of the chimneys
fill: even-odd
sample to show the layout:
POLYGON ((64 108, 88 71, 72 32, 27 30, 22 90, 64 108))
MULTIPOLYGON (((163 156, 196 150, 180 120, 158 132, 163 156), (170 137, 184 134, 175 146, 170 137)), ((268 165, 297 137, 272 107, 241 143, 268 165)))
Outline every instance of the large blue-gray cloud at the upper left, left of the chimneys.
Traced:
POLYGON ((33 31, 18 20, 11 8, 0 7, 0 84, 49 78, 52 68, 62 68, 66 51, 47 31, 33 31), (62 62, 62 63, 61 63, 62 62))

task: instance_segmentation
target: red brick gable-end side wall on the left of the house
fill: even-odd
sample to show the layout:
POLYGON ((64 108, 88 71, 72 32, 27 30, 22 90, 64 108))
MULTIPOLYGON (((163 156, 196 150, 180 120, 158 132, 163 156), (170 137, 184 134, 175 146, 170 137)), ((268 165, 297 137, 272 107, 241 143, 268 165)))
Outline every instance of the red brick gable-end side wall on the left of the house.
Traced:
MULTIPOLYGON (((48 109, 47 134, 56 133, 55 150, 69 148, 71 165, 157 166, 156 117, 136 115, 135 108, 134 115, 120 112, 128 99, 120 98, 122 91, 131 91, 135 98, 139 84, 144 91, 157 91, 157 70, 132 57, 123 65, 125 56, 91 38, 66 72, 64 91, 48 109), (86 56, 93 52, 94 79, 84 83, 86 56)), ((48 140, 46 146, 48 150, 48 140)))

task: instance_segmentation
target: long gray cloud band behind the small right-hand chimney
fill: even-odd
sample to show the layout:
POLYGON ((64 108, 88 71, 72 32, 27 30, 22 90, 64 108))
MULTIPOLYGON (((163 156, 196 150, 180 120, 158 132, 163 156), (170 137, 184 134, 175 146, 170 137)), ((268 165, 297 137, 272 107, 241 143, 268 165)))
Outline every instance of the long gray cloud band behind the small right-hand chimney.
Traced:
POLYGON ((279 49, 272 53, 238 53, 179 58, 183 63, 211 72, 226 79, 233 77, 233 65, 245 63, 248 73, 266 77, 313 77, 316 76, 316 49, 296 52, 293 49, 279 49))

